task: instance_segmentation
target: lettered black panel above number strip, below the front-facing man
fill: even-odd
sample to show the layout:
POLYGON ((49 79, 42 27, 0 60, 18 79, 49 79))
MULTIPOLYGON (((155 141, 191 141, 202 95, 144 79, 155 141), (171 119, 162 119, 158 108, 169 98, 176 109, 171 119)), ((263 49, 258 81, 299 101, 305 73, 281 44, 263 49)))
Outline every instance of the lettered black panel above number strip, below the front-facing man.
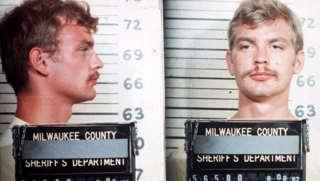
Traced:
MULTIPOLYGON (((194 129, 195 123, 192 124, 193 132, 194 129)), ((300 122, 201 122, 192 155, 192 167, 300 169, 300 137, 300 122), (205 145, 210 141, 213 144, 205 145), (211 150, 199 148, 205 146, 211 150), (293 149, 295 152, 292 152, 293 149), (219 153, 196 154, 199 150, 219 153)))

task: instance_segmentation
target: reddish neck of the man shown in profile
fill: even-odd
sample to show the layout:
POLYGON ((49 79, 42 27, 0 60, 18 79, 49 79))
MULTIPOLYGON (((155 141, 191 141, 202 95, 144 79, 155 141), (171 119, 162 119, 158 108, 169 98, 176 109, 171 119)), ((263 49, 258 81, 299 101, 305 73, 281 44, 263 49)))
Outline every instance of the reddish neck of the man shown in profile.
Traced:
POLYGON ((17 95, 15 116, 29 124, 66 123, 72 114, 72 104, 56 96, 28 91, 17 95))

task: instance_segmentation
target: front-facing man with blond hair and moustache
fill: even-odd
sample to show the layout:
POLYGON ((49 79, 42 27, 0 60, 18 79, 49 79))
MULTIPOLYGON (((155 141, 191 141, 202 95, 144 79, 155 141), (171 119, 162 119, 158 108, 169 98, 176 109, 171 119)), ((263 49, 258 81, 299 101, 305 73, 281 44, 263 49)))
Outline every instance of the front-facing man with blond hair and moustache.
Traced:
MULTIPOLYGON (((293 74, 305 62, 298 17, 278 0, 246 0, 228 26, 228 70, 239 88, 231 119, 295 119, 288 97, 293 74)), ((167 179, 186 180, 181 147, 167 159, 167 179)))

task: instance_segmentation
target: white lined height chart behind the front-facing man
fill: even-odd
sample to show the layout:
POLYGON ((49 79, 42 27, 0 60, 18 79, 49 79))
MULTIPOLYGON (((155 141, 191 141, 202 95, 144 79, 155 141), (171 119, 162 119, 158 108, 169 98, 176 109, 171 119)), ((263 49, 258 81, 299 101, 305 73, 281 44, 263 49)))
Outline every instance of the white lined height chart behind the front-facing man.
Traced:
MULTIPOLYGON (((226 119, 238 109, 238 87, 225 61, 227 27, 240 0, 165 0, 164 70, 166 157, 185 143, 186 119, 226 119)), ((294 75, 289 110, 308 118, 310 152, 307 180, 319 178, 319 77, 317 70, 320 3, 316 0, 282 1, 303 23, 306 62, 294 75), (309 178, 308 178, 309 177, 309 178)))

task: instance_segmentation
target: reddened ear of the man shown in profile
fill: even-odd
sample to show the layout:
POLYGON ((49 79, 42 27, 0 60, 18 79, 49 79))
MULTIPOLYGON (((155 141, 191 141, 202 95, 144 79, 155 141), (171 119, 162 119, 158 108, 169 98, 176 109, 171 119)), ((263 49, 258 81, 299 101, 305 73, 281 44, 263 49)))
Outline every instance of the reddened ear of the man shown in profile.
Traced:
POLYGON ((46 56, 47 54, 39 47, 33 47, 29 52, 29 65, 43 76, 49 75, 46 56))

